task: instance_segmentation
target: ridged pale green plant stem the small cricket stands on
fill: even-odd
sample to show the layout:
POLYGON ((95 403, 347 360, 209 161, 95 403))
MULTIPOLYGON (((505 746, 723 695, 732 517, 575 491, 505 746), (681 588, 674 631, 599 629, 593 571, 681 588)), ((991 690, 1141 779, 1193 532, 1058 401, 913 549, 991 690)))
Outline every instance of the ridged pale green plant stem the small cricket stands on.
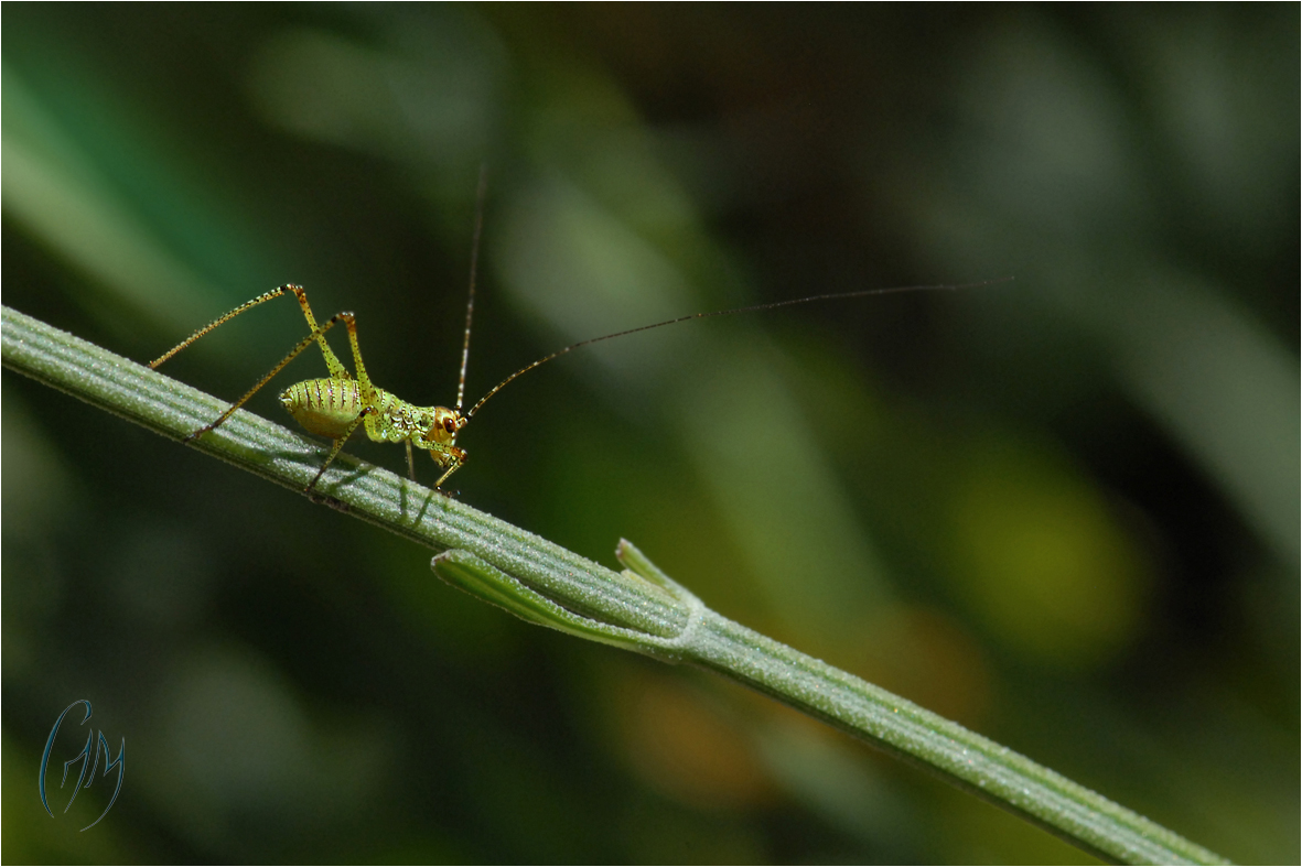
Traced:
MULTIPOLYGON (((72 335, 3 310, 4 366, 184 440, 225 405, 72 335)), ((327 450, 250 413, 190 443, 302 491, 327 450)), ((1042 825, 1128 863, 1223 863, 1184 837, 837 668, 707 608, 628 542, 611 571, 414 482, 341 454, 312 499, 441 553, 445 581, 535 624, 751 686, 1042 825)))

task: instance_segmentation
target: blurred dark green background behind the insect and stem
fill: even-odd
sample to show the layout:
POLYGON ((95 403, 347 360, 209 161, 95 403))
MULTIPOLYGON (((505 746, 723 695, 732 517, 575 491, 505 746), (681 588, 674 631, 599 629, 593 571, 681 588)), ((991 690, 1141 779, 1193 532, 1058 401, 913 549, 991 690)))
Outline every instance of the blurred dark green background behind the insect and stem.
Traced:
MULTIPOLYGON (((471 398, 686 312, 1014 276, 574 353, 475 417, 452 487, 607 565, 626 536, 1226 857, 1302 857, 1297 5, 4 21, 4 303, 142 362, 294 281, 357 312, 379 384, 452 402, 480 163, 471 398)), ((303 333, 271 303, 165 372, 233 400, 303 333)), ((251 409, 289 424, 275 392, 251 409)), ((3 398, 7 862, 1085 858, 9 371, 3 398), (86 833, 108 785, 57 820, 35 788, 81 698, 128 743, 86 833)))

